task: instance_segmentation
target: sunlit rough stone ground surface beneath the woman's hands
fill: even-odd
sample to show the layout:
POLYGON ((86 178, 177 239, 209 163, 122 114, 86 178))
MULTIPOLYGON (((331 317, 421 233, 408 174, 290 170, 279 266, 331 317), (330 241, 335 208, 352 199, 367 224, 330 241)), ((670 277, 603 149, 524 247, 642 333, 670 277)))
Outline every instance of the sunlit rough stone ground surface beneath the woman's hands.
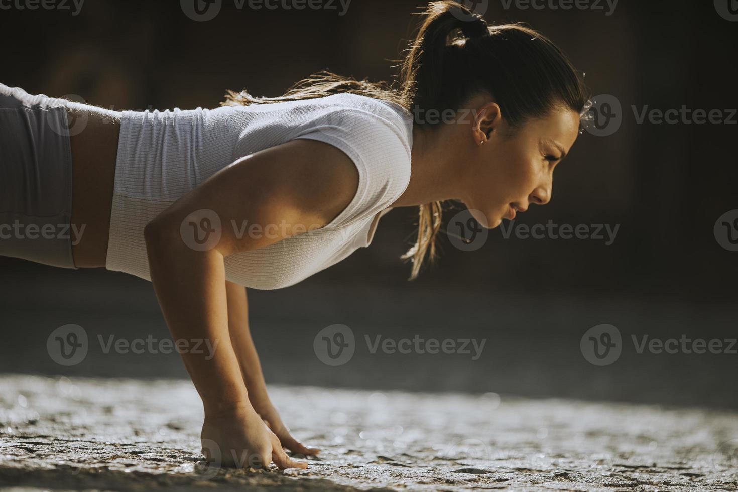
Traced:
POLYGON ((738 413, 275 387, 307 471, 199 462, 188 381, 0 376, 0 486, 738 491, 738 413))

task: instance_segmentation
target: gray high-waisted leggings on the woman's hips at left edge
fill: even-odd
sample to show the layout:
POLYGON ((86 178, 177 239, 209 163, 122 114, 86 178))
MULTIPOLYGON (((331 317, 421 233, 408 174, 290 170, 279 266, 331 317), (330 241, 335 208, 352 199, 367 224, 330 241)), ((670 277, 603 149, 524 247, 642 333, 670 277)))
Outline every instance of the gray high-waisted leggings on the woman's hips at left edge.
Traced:
POLYGON ((0 83, 0 256, 76 268, 68 103, 0 83))

